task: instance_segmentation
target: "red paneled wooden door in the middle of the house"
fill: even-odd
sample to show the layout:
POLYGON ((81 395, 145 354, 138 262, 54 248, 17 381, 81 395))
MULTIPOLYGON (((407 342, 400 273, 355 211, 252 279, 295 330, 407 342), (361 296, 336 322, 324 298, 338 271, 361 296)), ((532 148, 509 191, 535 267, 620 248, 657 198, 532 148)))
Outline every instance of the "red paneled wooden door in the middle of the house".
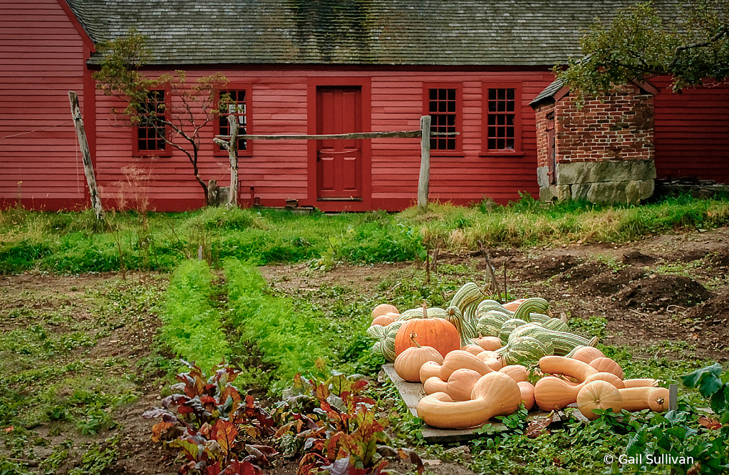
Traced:
MULTIPOLYGON (((362 132, 362 88, 316 88, 316 134, 362 132)), ((362 200, 362 140, 316 141, 317 198, 362 200)))

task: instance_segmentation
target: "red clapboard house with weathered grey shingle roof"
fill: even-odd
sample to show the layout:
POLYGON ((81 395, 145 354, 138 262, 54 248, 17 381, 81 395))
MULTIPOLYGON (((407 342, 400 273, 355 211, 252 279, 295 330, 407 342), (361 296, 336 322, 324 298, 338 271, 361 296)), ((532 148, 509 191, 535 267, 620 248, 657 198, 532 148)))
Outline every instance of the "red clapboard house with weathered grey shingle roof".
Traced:
MULTIPOLYGON (((87 206, 67 96, 76 90, 106 204, 141 183, 158 211, 203 206, 187 157, 114 115, 124 104, 95 90, 94 45, 129 28, 149 36, 149 76, 224 74, 247 134, 416 130, 429 114, 433 131, 459 132, 432 139, 431 199, 538 196, 530 103, 553 82, 555 63, 580 55, 593 18, 631 3, 0 0, 0 202, 87 206)), ((728 180, 729 88, 672 96, 666 84, 654 82, 652 99, 658 177, 728 180)), ((200 152, 201 177, 219 185, 228 159, 212 139, 225 132, 225 122, 208 125, 200 152)), ((244 205, 295 198, 325 211, 398 210, 416 198, 419 139, 244 145, 244 205)))

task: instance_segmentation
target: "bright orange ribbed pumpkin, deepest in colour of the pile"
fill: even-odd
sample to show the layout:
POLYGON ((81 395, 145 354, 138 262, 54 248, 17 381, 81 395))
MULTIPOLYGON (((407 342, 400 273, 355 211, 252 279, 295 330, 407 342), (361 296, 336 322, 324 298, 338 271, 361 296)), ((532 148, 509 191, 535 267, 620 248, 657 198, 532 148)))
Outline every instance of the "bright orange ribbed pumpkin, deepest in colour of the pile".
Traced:
POLYGON ((395 335, 395 355, 398 356, 408 347, 414 347, 410 333, 423 347, 433 347, 445 356, 453 350, 460 350, 461 336, 453 323, 443 318, 413 318, 402 324, 395 335))

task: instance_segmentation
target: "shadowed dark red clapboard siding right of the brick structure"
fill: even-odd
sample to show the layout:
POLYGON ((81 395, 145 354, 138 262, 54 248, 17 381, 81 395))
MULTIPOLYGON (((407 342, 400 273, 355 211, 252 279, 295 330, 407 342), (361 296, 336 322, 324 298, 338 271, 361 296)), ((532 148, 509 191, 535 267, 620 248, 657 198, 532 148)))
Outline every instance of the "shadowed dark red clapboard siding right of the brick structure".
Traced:
POLYGON ((651 82, 660 89, 655 96, 658 178, 729 182, 729 83, 677 95, 667 90, 668 79, 651 82))

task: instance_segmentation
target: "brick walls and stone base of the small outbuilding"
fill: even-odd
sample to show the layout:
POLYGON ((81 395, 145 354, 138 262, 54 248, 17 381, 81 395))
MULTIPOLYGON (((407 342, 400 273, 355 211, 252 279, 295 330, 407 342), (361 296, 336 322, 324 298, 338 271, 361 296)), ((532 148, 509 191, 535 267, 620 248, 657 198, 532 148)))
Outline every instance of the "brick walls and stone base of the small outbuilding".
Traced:
POLYGON ((539 198, 638 203, 654 189, 653 96, 636 85, 577 107, 572 96, 537 106, 539 198), (550 169, 547 116, 554 113, 550 169))

